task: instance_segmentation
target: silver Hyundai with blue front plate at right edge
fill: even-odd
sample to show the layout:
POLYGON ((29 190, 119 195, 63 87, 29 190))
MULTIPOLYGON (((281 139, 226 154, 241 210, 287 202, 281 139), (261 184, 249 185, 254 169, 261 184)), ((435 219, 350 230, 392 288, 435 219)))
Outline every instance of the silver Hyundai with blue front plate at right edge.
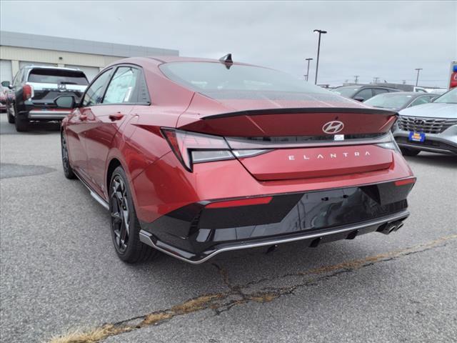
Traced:
POLYGON ((399 114, 393 136, 403 155, 416 156, 420 151, 457 154, 457 89, 399 114))

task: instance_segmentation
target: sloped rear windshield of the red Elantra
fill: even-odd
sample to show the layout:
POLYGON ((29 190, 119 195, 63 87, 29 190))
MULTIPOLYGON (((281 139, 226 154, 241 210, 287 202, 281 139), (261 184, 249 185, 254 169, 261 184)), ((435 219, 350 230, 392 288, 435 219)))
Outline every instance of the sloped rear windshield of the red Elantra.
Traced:
POLYGON ((323 93, 321 87, 308 84, 293 76, 259 66, 233 64, 227 69, 218 62, 171 62, 162 64, 161 71, 172 81, 187 88, 206 92, 273 91, 323 93))

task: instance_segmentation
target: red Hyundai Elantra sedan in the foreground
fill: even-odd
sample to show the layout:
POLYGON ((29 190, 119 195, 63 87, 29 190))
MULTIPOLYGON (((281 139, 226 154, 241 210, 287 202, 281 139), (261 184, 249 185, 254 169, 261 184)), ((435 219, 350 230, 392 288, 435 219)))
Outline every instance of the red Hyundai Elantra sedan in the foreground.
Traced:
POLYGON ((109 210, 125 262, 317 247, 389 234, 409 214, 416 179, 391 135, 396 112, 280 71, 231 56, 124 59, 71 107, 64 174, 109 210))

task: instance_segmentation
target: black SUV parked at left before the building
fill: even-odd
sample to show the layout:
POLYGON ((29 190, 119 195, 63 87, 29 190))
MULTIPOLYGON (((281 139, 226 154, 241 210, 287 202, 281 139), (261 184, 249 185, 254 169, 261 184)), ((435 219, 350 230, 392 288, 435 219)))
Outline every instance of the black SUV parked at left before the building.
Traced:
POLYGON ((80 99, 89 82, 79 69, 24 66, 14 76, 12 84, 9 81, 1 84, 12 92, 6 99, 9 123, 14 123, 17 131, 27 131, 31 121, 63 119, 69 110, 59 109, 54 99, 60 95, 80 99))

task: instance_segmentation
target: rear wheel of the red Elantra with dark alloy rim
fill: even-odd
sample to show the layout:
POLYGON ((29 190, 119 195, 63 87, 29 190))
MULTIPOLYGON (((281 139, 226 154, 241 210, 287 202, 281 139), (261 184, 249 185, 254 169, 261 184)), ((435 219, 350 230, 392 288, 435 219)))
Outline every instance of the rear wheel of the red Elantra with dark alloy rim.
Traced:
POLYGON ((140 241, 140 224, 136 217, 129 182, 124 169, 114 169, 109 183, 111 237, 116 254, 126 263, 146 261, 159 253, 140 241))

